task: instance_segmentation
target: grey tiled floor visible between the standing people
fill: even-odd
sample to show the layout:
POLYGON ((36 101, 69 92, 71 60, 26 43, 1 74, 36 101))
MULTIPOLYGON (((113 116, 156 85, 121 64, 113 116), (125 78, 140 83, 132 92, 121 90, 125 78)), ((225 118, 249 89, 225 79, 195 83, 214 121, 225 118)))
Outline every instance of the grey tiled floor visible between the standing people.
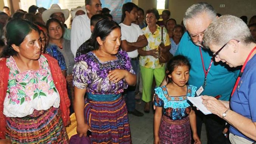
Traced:
MULTIPOLYGON (((142 102, 140 105, 136 105, 137 110, 143 112, 145 103, 142 102)), ((132 133, 132 143, 133 144, 153 144, 154 143, 154 133, 153 133, 153 124, 154 124, 154 114, 152 109, 150 113, 144 113, 144 116, 137 117, 132 114, 128 114, 130 129, 132 133)), ((206 131, 205 127, 202 128, 201 135, 202 144, 207 144, 206 131)))

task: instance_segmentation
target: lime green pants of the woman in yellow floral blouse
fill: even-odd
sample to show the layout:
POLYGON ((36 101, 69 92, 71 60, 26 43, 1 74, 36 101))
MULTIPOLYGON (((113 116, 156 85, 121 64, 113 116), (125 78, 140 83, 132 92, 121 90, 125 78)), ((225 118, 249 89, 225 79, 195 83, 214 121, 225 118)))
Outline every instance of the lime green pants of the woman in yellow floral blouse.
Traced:
POLYGON ((151 99, 151 91, 152 91, 152 83, 153 78, 156 81, 156 87, 159 87, 162 81, 164 80, 166 70, 165 67, 160 67, 156 69, 146 68, 140 65, 141 79, 142 79, 142 100, 150 102, 151 99))

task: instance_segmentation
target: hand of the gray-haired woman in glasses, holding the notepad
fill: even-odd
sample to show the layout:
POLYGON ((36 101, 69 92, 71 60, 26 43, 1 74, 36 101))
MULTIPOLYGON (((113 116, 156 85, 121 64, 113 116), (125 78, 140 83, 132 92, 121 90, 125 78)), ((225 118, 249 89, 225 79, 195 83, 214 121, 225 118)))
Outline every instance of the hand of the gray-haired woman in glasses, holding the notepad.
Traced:
POLYGON ((222 114, 228 109, 224 103, 214 97, 204 95, 201 98, 203 100, 202 104, 204 104, 210 112, 218 115, 219 117, 222 117, 222 114))

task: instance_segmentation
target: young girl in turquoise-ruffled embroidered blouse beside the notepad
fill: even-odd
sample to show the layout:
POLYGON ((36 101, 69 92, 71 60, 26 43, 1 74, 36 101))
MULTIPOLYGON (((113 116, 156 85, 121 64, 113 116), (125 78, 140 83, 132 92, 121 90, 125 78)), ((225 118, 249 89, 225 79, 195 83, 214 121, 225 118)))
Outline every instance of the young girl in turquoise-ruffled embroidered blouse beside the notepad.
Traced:
POLYGON ((187 97, 195 97, 196 87, 187 85, 190 63, 182 55, 166 65, 167 85, 155 89, 154 144, 201 144, 196 133, 196 114, 187 97))

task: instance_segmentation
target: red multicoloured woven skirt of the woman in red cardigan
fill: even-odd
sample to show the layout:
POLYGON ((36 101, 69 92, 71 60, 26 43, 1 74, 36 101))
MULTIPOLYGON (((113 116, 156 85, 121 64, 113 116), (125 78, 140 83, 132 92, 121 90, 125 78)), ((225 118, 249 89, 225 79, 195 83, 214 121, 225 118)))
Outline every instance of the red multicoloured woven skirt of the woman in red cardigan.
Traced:
POLYGON ((13 144, 68 144, 60 109, 34 110, 23 118, 6 119, 6 139, 13 144))

